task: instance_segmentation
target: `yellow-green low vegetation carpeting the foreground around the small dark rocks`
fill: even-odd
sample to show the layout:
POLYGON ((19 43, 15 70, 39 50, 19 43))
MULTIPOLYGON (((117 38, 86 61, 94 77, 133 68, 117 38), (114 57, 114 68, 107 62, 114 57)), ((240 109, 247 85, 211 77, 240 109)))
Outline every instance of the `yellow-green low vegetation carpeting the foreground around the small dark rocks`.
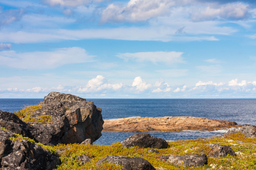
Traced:
POLYGON ((60 144, 52 147, 60 155, 61 165, 56 170, 120 170, 121 166, 97 164, 99 159, 108 155, 140 157, 149 161, 157 170, 255 170, 256 169, 256 139, 247 138, 242 133, 230 134, 224 138, 193 139, 169 142, 169 148, 157 149, 160 153, 149 152, 150 148, 122 148, 117 142, 109 145, 91 144, 60 144), (230 146, 237 156, 214 158, 209 155, 211 150, 207 144, 222 144, 230 146), (166 161, 160 161, 161 155, 206 154, 208 164, 202 167, 174 166, 166 161), (90 156, 92 160, 82 164, 79 156, 90 156), (82 165, 81 165, 82 164, 82 165))

